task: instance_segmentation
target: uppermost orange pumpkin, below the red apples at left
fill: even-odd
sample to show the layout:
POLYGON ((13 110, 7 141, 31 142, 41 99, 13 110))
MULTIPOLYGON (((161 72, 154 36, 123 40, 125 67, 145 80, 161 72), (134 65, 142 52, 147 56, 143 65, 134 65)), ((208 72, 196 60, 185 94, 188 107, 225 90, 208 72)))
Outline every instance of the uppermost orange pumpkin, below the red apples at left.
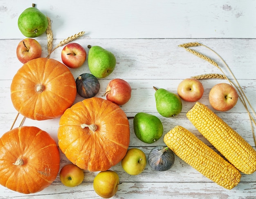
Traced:
POLYGON ((37 58, 25 63, 11 82, 11 101, 27 118, 60 117, 76 98, 76 82, 70 70, 55 59, 37 58))

